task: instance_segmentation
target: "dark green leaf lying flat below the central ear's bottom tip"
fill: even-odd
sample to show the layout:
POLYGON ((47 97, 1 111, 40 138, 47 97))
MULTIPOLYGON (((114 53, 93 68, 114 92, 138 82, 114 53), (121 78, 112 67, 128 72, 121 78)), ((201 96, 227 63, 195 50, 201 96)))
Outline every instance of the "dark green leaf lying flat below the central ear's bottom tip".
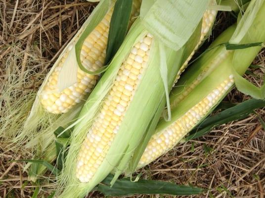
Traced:
POLYGON ((105 196, 131 196, 134 194, 168 194, 168 195, 196 195, 203 192, 203 189, 176 185, 170 182, 153 180, 138 180, 131 182, 130 179, 119 179, 110 188, 112 176, 109 175, 101 184, 96 187, 105 196))

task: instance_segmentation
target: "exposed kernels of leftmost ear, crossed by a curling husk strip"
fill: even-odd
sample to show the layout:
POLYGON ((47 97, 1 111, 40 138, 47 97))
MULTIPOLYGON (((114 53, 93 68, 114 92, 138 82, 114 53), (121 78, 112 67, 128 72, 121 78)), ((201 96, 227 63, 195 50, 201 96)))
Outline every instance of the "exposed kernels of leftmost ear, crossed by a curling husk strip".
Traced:
MULTIPOLYGON (((89 71, 95 71, 103 66, 106 56, 108 32, 113 8, 106 14, 96 28, 88 35, 82 46, 81 61, 89 71)), ((78 37, 76 38, 76 40, 78 37)), ((74 42, 75 43, 75 42, 74 42)), ((74 44, 73 44, 74 45, 74 44)), ((69 51, 72 49, 69 46, 69 51)), ((59 72, 69 54, 66 51, 58 66, 50 75, 47 84, 41 93, 41 103, 51 113, 65 113, 74 105, 81 102, 91 92, 98 79, 97 75, 91 75, 78 68, 78 82, 59 92, 57 83, 59 72)))

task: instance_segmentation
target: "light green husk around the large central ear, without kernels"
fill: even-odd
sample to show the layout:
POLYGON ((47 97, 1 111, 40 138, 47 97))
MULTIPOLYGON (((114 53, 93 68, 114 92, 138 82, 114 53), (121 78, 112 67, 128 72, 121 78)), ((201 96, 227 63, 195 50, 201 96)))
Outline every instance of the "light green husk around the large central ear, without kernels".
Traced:
MULTIPOLYGON (((159 8, 159 10, 162 10, 161 14, 176 11, 176 7, 173 8, 170 1, 157 0, 155 7, 152 7, 152 3, 150 4, 150 2, 154 2, 153 0, 149 0, 148 2, 146 0, 143 1, 143 3, 144 2, 146 3, 144 5, 145 14, 149 17, 150 15, 148 15, 148 10, 146 10, 148 5, 152 8, 152 10, 155 8, 158 9, 158 4, 164 5, 166 9, 163 10, 159 8)), ((172 2, 174 2, 174 6, 176 6, 177 1, 172 2)), ((71 137, 71 146, 68 150, 64 168, 59 178, 60 186, 58 190, 62 190, 63 192, 58 196, 58 198, 70 198, 73 197, 73 195, 77 198, 82 198, 86 196, 88 192, 90 192, 111 171, 115 172, 114 179, 111 182, 111 184, 113 184, 126 168, 126 164, 130 160, 134 149, 140 143, 145 131, 147 130, 148 124, 153 117, 156 117, 157 115, 160 116, 161 111, 163 110, 163 108, 160 107, 164 107, 166 103, 166 92, 170 90, 170 87, 174 83, 174 78, 176 77, 182 59, 190 54, 190 52, 187 53, 183 50, 181 43, 179 43, 177 47, 180 49, 174 50, 170 48, 171 46, 167 46, 167 41, 165 43, 162 43, 161 41, 167 40, 167 36, 171 35, 173 40, 178 42, 179 37, 175 37, 173 35, 177 35, 178 30, 181 29, 183 24, 185 24, 183 21, 187 20, 190 15, 192 15, 191 13, 194 14, 194 12, 188 11, 189 9, 192 10, 196 7, 194 7, 194 4, 198 5, 195 13, 195 15, 197 15, 197 18, 195 17, 197 23, 185 24, 185 26, 188 26, 190 29, 181 42, 185 41, 186 43, 190 37, 197 40, 199 39, 198 31, 195 30, 198 29, 198 24, 200 23, 200 19, 202 18, 209 1, 206 0, 200 3, 190 1, 190 3, 193 4, 193 6, 186 8, 187 10, 185 14, 187 14, 187 16, 181 19, 182 22, 179 23, 181 25, 173 23, 173 25, 177 25, 176 31, 175 28, 166 29, 164 34, 161 32, 155 34, 156 36, 154 36, 153 39, 147 69, 133 96, 133 100, 126 111, 123 122, 119 127, 119 131, 108 149, 106 157, 98 167, 90 182, 82 183, 76 178, 75 170, 77 165, 77 155, 84 138, 87 136, 88 129, 93 123, 94 117, 100 109, 102 101, 111 89, 113 80, 116 78, 120 65, 124 61, 125 57, 127 57, 127 55, 131 52, 133 45, 141 40, 148 32, 151 34, 155 32, 159 27, 157 25, 161 23, 161 21, 159 21, 159 23, 153 25, 154 29, 148 29, 148 26, 145 26, 146 21, 137 19, 134 22, 123 45, 110 63, 108 70, 102 76, 100 82, 97 84, 85 103, 78 121, 74 123, 75 128, 71 137), (164 40, 161 40, 161 37, 164 40), (151 88, 150 85, 152 85, 151 88)), ((141 7, 141 12, 142 8, 143 6, 141 7)), ((156 18, 156 16, 153 18, 153 20, 157 19, 158 18, 156 18)), ((165 27, 169 27, 166 23, 165 27)), ((181 34, 178 36, 181 36, 181 34)), ((194 46, 190 50, 192 51, 193 49, 194 46)), ((60 191, 58 194, 60 194, 60 191)))

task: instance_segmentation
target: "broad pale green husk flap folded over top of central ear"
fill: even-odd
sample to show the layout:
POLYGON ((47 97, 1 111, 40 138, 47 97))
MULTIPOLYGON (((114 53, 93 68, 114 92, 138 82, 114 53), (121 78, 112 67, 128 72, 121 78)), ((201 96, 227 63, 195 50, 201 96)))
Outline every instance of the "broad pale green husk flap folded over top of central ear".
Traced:
POLYGON ((148 0, 148 4, 149 10, 144 6, 140 13, 143 25, 166 46, 178 50, 195 31, 210 0, 148 0))

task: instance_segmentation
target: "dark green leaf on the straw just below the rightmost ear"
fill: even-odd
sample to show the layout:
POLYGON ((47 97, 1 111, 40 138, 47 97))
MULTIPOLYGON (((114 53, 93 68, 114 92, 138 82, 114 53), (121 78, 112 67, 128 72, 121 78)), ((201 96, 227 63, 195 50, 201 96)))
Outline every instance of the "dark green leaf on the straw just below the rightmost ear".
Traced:
POLYGON ((200 125, 190 132, 190 135, 185 138, 185 141, 201 137, 208 133, 213 127, 220 126, 221 124, 225 124, 233 120, 243 119, 252 113, 254 109, 264 106, 265 100, 248 99, 231 108, 225 109, 214 116, 206 118, 200 125))

